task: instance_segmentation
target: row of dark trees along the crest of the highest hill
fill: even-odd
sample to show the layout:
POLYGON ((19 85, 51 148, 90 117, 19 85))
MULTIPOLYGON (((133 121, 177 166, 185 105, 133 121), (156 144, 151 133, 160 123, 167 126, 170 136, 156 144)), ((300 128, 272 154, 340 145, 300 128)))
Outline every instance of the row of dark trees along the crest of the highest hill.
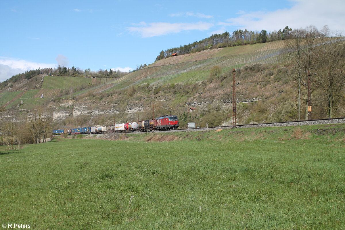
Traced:
POLYGON ((231 35, 229 32, 213 34, 212 36, 191 44, 174 47, 165 51, 160 51, 156 61, 171 57, 173 53, 187 54, 199 52, 206 49, 214 49, 228 46, 239 46, 245 44, 265 43, 271 41, 285 40, 290 37, 292 29, 286 26, 283 30, 267 32, 266 30, 248 31, 247 29, 235 30, 231 35))

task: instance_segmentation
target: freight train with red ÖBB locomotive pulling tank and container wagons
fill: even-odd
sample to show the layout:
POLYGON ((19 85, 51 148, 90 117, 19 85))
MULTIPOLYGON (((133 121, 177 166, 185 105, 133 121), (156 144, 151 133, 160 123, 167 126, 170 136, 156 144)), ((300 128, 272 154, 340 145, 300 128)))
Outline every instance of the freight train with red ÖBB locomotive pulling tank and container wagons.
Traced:
MULTIPOLYGON (((110 126, 97 126, 68 129, 68 134, 97 134, 97 133, 114 133, 114 132, 144 132, 177 129, 179 126, 178 118, 174 115, 166 115, 156 119, 142 120, 139 122, 129 122, 113 124, 110 126)), ((53 130, 53 135, 64 133, 63 129, 53 130)))

